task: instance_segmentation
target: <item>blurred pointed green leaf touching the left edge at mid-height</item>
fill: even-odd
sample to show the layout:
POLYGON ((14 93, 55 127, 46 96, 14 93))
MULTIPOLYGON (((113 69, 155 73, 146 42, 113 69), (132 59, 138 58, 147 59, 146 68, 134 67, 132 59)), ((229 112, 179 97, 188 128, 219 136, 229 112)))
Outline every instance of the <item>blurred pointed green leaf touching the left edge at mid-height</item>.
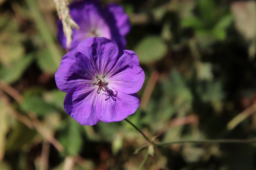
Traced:
POLYGON ((6 82, 6 83, 13 83, 17 81, 26 68, 32 63, 33 56, 32 54, 24 56, 19 61, 15 61, 10 66, 2 66, 0 68, 0 77, 6 82))

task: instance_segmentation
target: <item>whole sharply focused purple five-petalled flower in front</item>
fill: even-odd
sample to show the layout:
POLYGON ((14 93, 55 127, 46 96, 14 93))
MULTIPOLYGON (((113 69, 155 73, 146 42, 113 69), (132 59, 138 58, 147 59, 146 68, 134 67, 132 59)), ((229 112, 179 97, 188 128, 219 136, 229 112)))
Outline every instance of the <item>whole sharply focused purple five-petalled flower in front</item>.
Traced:
POLYGON ((64 55, 55 74, 57 87, 67 92, 64 109, 82 125, 133 114, 144 79, 137 55, 119 53, 116 43, 104 37, 90 37, 64 55))

